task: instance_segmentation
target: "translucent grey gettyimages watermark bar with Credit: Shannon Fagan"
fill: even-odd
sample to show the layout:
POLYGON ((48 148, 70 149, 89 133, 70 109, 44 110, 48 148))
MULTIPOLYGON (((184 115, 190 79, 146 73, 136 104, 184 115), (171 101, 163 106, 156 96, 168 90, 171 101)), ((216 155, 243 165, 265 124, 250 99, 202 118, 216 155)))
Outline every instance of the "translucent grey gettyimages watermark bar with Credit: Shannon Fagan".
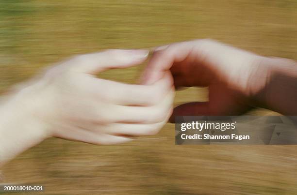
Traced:
POLYGON ((297 144, 297 116, 176 116, 175 144, 297 144))

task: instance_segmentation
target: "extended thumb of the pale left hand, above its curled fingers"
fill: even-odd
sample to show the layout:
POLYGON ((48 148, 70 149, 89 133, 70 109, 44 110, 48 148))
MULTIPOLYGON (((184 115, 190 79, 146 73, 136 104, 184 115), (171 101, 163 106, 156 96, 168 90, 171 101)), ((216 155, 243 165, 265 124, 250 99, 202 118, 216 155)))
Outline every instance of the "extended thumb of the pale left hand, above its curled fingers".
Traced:
POLYGON ((96 74, 111 68, 126 68, 137 65, 146 60, 147 57, 147 50, 110 49, 74 57, 66 61, 66 64, 72 71, 96 74))

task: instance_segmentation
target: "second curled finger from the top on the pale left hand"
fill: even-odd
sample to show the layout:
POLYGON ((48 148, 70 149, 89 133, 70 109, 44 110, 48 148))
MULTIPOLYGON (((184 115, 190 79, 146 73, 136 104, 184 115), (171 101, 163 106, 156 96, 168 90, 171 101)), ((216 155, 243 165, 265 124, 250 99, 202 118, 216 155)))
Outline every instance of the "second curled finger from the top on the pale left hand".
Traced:
POLYGON ((174 91, 168 92, 164 100, 154 106, 116 105, 115 113, 110 116, 117 123, 156 123, 165 119, 172 107, 174 91))

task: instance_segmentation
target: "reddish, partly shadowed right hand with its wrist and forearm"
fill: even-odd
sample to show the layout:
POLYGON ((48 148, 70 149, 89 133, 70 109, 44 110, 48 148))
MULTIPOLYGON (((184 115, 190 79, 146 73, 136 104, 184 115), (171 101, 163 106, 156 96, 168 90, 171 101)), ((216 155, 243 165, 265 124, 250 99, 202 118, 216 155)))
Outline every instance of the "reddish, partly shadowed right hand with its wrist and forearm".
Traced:
POLYGON ((174 116, 240 115, 253 107, 297 115, 296 65, 293 60, 263 57, 200 39, 157 48, 142 82, 153 84, 170 71, 176 88, 208 87, 208 102, 177 106, 172 122, 174 116))

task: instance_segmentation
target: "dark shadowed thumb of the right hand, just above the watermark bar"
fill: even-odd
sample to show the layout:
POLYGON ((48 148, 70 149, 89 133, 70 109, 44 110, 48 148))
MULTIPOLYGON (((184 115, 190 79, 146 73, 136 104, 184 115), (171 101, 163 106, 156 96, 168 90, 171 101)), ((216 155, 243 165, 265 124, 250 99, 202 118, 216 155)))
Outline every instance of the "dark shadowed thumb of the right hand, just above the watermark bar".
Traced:
POLYGON ((170 122, 175 122, 175 116, 208 116, 213 115, 210 111, 209 102, 191 102, 179 105, 174 108, 169 119, 170 122))

